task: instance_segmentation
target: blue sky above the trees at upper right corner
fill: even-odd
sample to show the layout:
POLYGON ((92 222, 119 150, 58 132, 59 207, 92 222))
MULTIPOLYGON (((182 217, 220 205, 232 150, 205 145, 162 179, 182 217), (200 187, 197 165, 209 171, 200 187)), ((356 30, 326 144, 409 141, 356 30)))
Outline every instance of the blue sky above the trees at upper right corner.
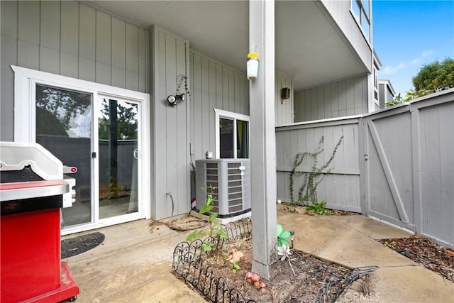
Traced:
POLYGON ((454 1, 372 1, 374 48, 382 68, 402 95, 424 64, 454 58, 454 1))

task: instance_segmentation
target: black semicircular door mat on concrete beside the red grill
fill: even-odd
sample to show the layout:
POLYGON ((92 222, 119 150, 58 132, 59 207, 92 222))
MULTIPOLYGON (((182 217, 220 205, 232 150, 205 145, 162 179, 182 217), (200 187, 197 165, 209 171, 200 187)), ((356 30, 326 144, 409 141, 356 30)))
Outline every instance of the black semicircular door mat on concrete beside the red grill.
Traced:
POLYGON ((96 232, 62 240, 62 259, 70 258, 95 248, 104 241, 104 238, 103 233, 96 232))

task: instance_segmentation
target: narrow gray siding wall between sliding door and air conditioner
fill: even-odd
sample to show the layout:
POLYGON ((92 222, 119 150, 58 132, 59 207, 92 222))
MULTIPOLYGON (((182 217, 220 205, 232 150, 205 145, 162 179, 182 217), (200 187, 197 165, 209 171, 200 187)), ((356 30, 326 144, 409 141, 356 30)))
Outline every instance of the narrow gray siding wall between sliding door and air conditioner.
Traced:
MULTIPOLYGON (((154 102, 152 155, 154 180, 151 216, 162 219, 189 211, 189 107, 191 100, 177 106, 167 103, 167 96, 177 92, 177 76, 188 75, 187 40, 153 28, 154 102), (172 201, 173 198, 173 201, 172 201)), ((190 87, 190 83, 188 83, 190 87)), ((184 84, 183 84, 184 87, 184 84)), ((190 92, 190 91, 189 91, 190 92)), ((191 93, 192 94, 192 93, 191 93)))

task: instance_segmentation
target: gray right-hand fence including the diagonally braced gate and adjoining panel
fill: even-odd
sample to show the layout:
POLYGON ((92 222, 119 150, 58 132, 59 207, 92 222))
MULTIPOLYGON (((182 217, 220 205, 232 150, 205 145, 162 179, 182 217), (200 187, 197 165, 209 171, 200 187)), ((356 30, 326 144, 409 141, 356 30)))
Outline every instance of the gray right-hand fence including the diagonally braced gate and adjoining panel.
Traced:
POLYGON ((454 89, 362 117, 362 212, 454 247, 454 89))

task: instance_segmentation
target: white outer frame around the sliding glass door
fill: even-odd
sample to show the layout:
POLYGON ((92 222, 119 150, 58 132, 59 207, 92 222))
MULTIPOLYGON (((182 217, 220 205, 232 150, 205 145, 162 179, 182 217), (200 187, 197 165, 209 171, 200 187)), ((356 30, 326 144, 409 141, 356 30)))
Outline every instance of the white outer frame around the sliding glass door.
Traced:
MULTIPOLYGON (((113 99, 118 98, 122 100, 130 100, 138 102, 140 104, 140 121, 142 128, 140 129, 142 136, 138 138, 138 145, 140 144, 139 158, 142 161, 141 171, 139 172, 139 178, 143 181, 148 180, 151 175, 150 172, 150 130, 146 125, 150 119, 150 95, 142 92, 135 92, 129 89, 121 89, 119 87, 112 87, 106 84, 99 84, 89 82, 82 79, 75 79, 71 77, 50 74, 48 72, 41 72, 38 70, 31 70, 25 67, 18 67, 11 65, 11 69, 14 72, 14 141, 16 142, 35 142, 36 140, 36 117, 35 117, 35 85, 44 84, 52 87, 61 89, 70 89, 78 92, 87 92, 93 96, 93 106, 95 107, 98 95, 111 97, 113 99)), ((93 109, 95 110, 95 109, 93 109)), ((94 125, 92 125, 92 128, 94 125)), ((97 142, 97 132, 92 130, 92 140, 97 142)), ((92 150, 96 153, 97 145, 94 144, 92 150)), ((98 167, 92 167, 92 177, 97 180, 98 167)), ((145 216, 146 219, 151 217, 151 198, 150 191, 146 190, 147 187, 143 185, 143 190, 140 191, 140 199, 143 202, 143 211, 139 211, 140 216, 145 216)), ((96 196, 98 193, 95 191, 95 204, 96 196)), ((96 209, 96 207, 94 207, 96 209)), ((92 211, 94 211, 92 209, 92 211)), ((68 228, 67 231, 62 231, 62 234, 74 233, 79 231, 85 231, 94 227, 109 226, 118 224, 121 222, 112 220, 100 219, 96 221, 96 214, 92 212, 94 223, 82 224, 81 226, 74 226, 74 228, 68 228)), ((128 215, 125 215, 128 216, 128 215)), ((138 219, 133 218, 131 219, 138 219)), ((126 219, 126 221, 131 221, 126 219)), ((125 218, 121 219, 125 220, 125 218)))

